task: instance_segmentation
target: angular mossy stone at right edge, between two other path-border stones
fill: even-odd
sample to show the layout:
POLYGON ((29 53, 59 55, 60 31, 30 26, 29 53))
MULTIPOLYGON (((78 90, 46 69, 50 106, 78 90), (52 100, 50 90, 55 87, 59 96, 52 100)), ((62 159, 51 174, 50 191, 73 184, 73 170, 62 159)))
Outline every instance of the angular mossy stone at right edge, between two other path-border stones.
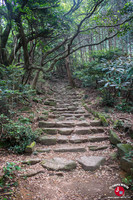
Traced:
POLYGON ((117 144, 118 155, 120 157, 124 156, 129 151, 133 150, 133 146, 131 144, 117 144))

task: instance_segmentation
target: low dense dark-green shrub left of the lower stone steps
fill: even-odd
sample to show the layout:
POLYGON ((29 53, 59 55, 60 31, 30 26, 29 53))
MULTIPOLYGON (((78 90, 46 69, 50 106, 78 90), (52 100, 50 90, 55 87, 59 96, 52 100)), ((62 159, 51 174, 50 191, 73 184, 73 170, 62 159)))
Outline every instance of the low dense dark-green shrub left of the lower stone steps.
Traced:
POLYGON ((8 149, 15 153, 23 153, 27 145, 33 142, 37 135, 32 131, 28 118, 20 117, 17 122, 13 122, 6 116, 0 115, 1 142, 8 149))

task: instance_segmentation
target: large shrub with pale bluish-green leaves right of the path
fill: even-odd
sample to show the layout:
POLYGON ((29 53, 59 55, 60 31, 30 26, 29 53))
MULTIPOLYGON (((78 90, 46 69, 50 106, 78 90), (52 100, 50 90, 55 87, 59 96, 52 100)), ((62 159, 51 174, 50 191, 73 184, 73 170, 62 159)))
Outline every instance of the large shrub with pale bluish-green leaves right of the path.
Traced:
POLYGON ((132 112, 133 61, 121 55, 118 49, 93 52, 91 56, 95 61, 78 67, 74 75, 85 87, 99 87, 102 105, 112 107, 119 103, 120 98, 125 98, 116 108, 132 112))

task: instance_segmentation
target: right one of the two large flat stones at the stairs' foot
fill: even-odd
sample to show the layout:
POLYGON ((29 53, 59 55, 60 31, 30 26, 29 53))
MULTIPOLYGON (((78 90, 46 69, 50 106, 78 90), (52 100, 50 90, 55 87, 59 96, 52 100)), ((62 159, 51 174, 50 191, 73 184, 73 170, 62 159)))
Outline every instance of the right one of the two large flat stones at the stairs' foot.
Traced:
POLYGON ((100 167, 105 162, 105 157, 102 156, 83 156, 78 159, 82 168, 85 171, 94 171, 100 167))

